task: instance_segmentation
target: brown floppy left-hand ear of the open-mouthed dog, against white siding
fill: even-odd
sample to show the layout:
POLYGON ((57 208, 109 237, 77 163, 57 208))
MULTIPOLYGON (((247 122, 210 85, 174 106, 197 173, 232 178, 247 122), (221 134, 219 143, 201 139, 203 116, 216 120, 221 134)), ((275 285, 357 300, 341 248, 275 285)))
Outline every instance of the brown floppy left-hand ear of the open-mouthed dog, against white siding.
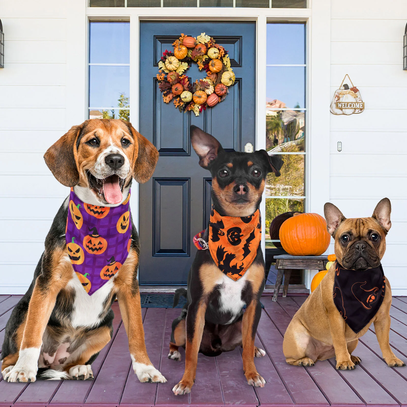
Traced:
POLYGON ((44 154, 45 163, 62 185, 75 186, 79 182, 74 148, 85 123, 79 126, 72 126, 44 154))

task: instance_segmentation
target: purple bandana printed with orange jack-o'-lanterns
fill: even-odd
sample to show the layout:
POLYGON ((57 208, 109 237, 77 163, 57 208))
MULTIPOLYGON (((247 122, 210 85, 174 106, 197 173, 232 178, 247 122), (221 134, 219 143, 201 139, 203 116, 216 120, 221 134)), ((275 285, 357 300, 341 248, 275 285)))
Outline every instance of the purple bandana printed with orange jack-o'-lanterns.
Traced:
POLYGON ((75 274, 92 295, 122 267, 131 245, 130 193, 115 207, 83 203, 71 188, 66 247, 75 274))

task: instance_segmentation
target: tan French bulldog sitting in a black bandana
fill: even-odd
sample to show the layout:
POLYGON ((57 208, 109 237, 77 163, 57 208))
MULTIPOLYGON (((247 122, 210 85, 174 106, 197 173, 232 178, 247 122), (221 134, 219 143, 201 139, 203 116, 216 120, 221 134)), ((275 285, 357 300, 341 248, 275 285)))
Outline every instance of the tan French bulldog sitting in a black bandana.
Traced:
POLYGON ((389 281, 384 278, 383 271, 373 280, 374 270, 381 267, 385 238, 391 226, 389 199, 382 199, 370 218, 346 219, 330 203, 325 204, 324 210, 328 232, 335 238, 337 263, 330 267, 290 322, 283 342, 287 363, 311 366, 317 360, 335 356, 337 369, 354 369, 360 359, 352 352, 373 323, 387 365, 404 366, 389 346, 392 304, 389 281), (342 291, 346 290, 344 293, 338 286, 341 274, 346 278, 342 287, 342 291), (346 302, 344 298, 350 300, 346 302), (378 309, 369 313, 373 304, 378 309), (350 327, 355 323, 359 323, 356 333, 350 327))

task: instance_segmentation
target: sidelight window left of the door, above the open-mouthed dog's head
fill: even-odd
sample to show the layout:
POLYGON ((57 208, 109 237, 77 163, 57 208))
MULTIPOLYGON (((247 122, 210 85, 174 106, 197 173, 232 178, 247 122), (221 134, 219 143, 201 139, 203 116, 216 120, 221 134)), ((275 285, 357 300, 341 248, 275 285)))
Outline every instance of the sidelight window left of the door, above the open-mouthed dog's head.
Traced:
POLYGON ((89 23, 89 118, 130 120, 130 23, 89 23))

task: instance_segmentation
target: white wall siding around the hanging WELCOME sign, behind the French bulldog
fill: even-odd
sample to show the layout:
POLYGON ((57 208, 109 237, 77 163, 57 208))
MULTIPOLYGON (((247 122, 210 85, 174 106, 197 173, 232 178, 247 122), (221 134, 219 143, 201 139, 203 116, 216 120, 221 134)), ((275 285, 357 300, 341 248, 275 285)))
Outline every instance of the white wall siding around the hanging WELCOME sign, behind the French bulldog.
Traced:
MULTIPOLYGON (((407 295, 407 2, 331 0, 331 98, 348 73, 365 111, 330 120, 330 201, 346 217, 370 216, 392 201, 383 268, 393 294, 407 295), (337 142, 342 151, 337 151, 337 142)), ((333 253, 331 245, 330 252, 333 253)))

